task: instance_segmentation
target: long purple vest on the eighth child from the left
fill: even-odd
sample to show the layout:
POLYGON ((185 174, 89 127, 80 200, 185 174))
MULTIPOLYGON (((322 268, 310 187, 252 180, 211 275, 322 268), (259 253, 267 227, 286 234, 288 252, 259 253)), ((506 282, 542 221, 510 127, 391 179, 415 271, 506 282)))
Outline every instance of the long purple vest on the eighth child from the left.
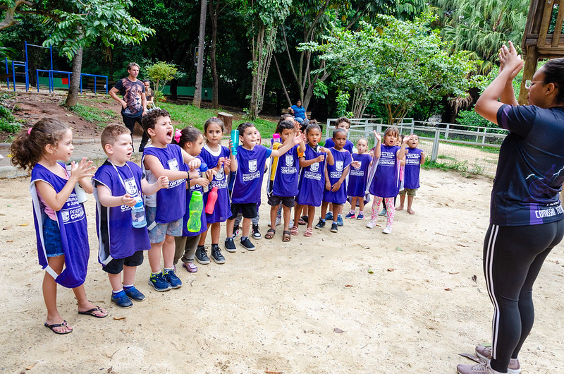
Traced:
MULTIPOLYGON (((319 155, 325 155, 323 152, 316 152, 311 145, 305 146, 305 159, 314 159, 319 155)), ((302 167, 300 170, 300 183, 298 184, 298 195, 295 200, 300 205, 311 205, 319 207, 323 198, 323 190, 325 188, 325 163, 316 162, 309 167, 302 167)))

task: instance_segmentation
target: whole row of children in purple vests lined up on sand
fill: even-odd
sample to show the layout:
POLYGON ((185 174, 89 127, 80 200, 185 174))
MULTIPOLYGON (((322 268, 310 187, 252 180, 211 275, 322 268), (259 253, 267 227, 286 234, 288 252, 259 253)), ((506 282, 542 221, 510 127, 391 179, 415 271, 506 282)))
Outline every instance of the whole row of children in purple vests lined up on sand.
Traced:
MULTIPOLYGON (((353 143, 347 140, 350 121, 344 117, 338 119, 333 137, 325 147, 319 146, 321 128, 316 121, 300 129, 291 116, 283 116, 278 122, 278 135, 275 134, 270 148, 260 145, 257 128, 248 122, 238 126, 238 147, 231 141, 229 147, 221 145, 225 129, 216 117, 204 123, 203 134, 194 127, 175 131, 168 112, 154 109, 143 116, 142 126, 151 138, 143 151, 142 167, 130 162, 133 144, 128 128, 110 125, 102 132, 102 147, 108 159, 94 174, 92 162, 86 159, 69 167, 58 162, 68 162, 73 151, 71 129, 59 121, 42 119, 13 141, 13 164, 32 169, 30 192, 39 263, 46 270, 45 326, 57 334, 72 332, 72 327, 57 311, 56 284, 73 288, 79 313, 97 318, 107 315, 106 310, 92 305, 85 296, 89 247, 81 189, 94 193, 96 199, 98 260, 108 273, 111 301, 129 308, 133 301, 145 298, 134 285, 143 251, 148 252, 151 267, 149 284, 156 291, 168 291, 182 286, 176 275, 179 260, 188 272, 197 271, 194 260, 200 264, 210 262, 204 247, 208 231, 212 242, 210 256, 216 263, 225 263, 219 248, 222 222, 227 222, 226 251, 237 250, 233 239, 239 231, 236 220, 240 215, 240 246, 255 250, 250 234, 260 238, 258 207, 269 159, 271 214, 265 238, 274 238, 276 216, 282 210, 285 242, 299 234, 299 224, 307 224, 304 236, 312 236, 314 213, 319 206, 321 218, 317 229, 323 229, 328 218, 333 219, 331 231, 337 232, 348 198, 352 209, 346 217, 355 218, 358 203, 360 212, 356 217, 363 219, 367 191, 374 195, 367 227, 374 227, 384 200, 388 223, 383 232, 389 234, 393 198, 400 190, 400 179, 405 176, 407 210, 412 213, 411 203, 419 187, 419 164, 424 162, 424 153, 417 148, 417 136, 407 136, 401 145, 396 145, 399 133, 393 127, 386 130, 384 144, 374 132, 377 143, 373 150, 368 151, 367 139, 361 138, 357 152, 352 153, 353 143), (405 172, 400 172, 402 163, 405 172), (192 210, 192 199, 197 202, 200 198, 206 209, 200 203, 199 210, 192 210), (295 210, 293 222, 291 208, 295 210), (331 214, 326 215, 328 208, 331 214)), ((400 195, 402 206, 404 198, 405 194, 400 195)), ((193 206, 197 207, 197 203, 193 206)))

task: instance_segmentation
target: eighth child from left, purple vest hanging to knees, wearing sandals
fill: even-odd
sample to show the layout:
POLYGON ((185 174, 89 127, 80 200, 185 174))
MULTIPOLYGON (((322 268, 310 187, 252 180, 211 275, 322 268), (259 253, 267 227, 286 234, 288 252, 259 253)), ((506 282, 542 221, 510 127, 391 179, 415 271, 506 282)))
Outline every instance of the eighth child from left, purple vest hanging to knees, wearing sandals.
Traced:
POLYGON ((321 205, 323 188, 325 186, 325 164, 334 164, 333 155, 327 148, 319 147, 321 140, 321 128, 317 123, 309 123, 305 129, 307 145, 304 157, 300 157, 300 182, 298 183, 298 195, 296 195, 296 207, 294 210, 294 226, 290 230, 292 235, 298 235, 296 223, 300 219, 302 207, 307 207, 307 229, 304 236, 313 234, 313 218, 315 207, 321 205), (327 159, 325 159, 327 157, 327 159))

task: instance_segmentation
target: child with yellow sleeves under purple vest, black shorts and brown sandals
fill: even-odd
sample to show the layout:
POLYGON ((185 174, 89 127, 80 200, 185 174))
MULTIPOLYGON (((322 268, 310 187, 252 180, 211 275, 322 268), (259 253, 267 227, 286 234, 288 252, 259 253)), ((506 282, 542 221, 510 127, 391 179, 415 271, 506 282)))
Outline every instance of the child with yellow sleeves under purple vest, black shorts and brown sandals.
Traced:
MULTIPOLYGON (((292 133, 295 133, 295 123, 293 120, 281 121, 278 123, 276 133, 280 135, 280 140, 286 142, 292 133)), ((273 143, 272 149, 277 150, 282 143, 273 143)), ((264 236, 266 239, 272 239, 276 234, 276 215, 278 208, 282 203, 284 211, 284 230, 282 241, 290 241, 290 210, 295 205, 295 195, 298 195, 298 164, 300 157, 303 157, 305 143, 295 145, 286 152, 283 157, 273 157, 271 179, 272 189, 269 194, 270 207, 270 229, 266 231, 264 236)))

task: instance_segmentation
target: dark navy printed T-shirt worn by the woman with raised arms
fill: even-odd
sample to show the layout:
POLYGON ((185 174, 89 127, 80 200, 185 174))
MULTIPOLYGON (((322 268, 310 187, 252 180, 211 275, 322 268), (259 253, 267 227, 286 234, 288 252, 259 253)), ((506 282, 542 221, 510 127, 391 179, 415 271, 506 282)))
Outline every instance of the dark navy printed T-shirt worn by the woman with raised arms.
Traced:
POLYGON ((490 222, 522 226, 564 218, 564 108, 534 105, 498 109, 500 127, 510 131, 501 145, 490 222))

